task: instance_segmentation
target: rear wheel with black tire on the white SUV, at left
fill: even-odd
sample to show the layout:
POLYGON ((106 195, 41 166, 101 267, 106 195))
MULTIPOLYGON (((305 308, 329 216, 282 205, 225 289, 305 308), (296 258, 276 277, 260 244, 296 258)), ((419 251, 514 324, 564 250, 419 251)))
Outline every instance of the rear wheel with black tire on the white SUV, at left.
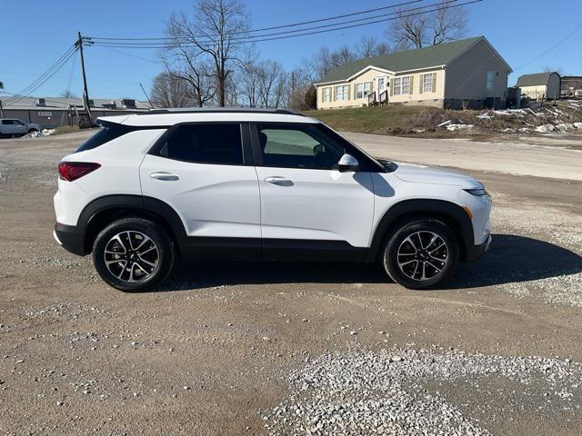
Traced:
POLYGON ((93 244, 93 264, 95 265, 95 270, 104 282, 124 292, 139 292, 155 289, 160 282, 166 279, 169 272, 172 271, 175 257, 174 246, 164 229, 156 223, 143 218, 123 218, 109 224, 97 234, 95 243, 93 244), (123 244, 116 243, 113 239, 115 235, 119 234, 121 234, 120 238, 123 241, 115 241, 123 242, 123 244), (143 235, 146 235, 147 238, 143 235), (133 243, 128 241, 127 238, 129 237, 132 238, 133 243), (138 250, 136 250, 140 241, 147 243, 143 249, 144 252, 150 249, 149 253, 143 253, 143 258, 138 254, 138 250), (131 248, 125 250, 126 245, 129 245, 131 248), (151 249, 152 246, 155 248, 151 249), (107 247, 108 252, 105 253, 105 248, 107 247), (121 250, 125 250, 125 252, 121 250), (130 258, 132 255, 134 257, 130 258), (153 255, 157 255, 157 257, 151 257, 153 255), (105 256, 107 256, 107 260, 110 262, 116 259, 119 259, 120 262, 111 262, 112 264, 108 267, 105 263, 105 256), (156 263, 155 268, 149 266, 152 263, 156 263), (127 269, 126 266, 122 267, 122 265, 128 264, 131 264, 130 269, 127 269), (140 267, 140 265, 143 267, 140 267), (115 274, 110 268, 111 270, 115 270, 115 274), (116 275, 117 272, 121 272, 119 277, 116 275), (132 282, 130 281, 131 279, 138 279, 138 281, 132 282))

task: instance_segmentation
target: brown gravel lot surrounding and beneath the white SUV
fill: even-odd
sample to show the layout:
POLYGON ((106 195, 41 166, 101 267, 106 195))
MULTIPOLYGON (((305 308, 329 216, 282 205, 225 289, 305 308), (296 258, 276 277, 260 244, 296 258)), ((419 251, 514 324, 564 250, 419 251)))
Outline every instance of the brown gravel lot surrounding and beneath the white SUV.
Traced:
POLYGON ((470 171, 494 243, 431 292, 193 263, 125 294, 51 236, 85 136, 0 141, 0 434, 582 434, 580 182, 470 171))

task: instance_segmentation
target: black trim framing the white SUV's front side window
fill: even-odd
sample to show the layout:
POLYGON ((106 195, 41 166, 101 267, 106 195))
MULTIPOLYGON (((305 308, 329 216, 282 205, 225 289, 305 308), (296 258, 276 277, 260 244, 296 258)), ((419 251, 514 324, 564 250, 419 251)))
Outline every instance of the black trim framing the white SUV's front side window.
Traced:
MULTIPOLYGON (((357 161, 359 162, 359 169, 357 172, 366 172, 366 173, 386 173, 386 168, 382 166, 381 163, 377 163, 373 158, 368 156, 365 152, 351 144, 346 138, 342 137, 340 134, 337 134, 333 129, 326 126, 326 124, 321 123, 284 123, 284 122, 276 122, 276 121, 267 121, 267 122, 253 122, 249 123, 250 133, 251 133, 251 143, 253 145, 253 157, 255 158, 256 166, 262 166, 266 168, 289 168, 289 167, 281 167, 276 165, 267 165, 263 162, 263 153, 261 151, 261 145, 258 139, 258 125, 273 125, 273 126, 284 126, 287 129, 293 128, 305 128, 306 126, 313 126, 313 125, 320 125, 326 130, 327 134, 331 134, 333 136, 332 139, 335 139, 339 143, 344 146, 347 154, 352 154, 356 157, 357 161)), ((291 167, 295 168, 295 167, 291 167)), ((334 171, 334 170, 322 170, 320 168, 307 168, 301 167, 297 169, 302 170, 316 170, 316 171, 334 171)))

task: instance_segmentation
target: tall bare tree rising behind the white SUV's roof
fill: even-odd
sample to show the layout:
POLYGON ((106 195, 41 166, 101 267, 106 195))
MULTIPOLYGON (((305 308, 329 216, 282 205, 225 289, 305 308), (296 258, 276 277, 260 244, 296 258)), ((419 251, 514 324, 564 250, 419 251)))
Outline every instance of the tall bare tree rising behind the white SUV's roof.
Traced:
POLYGON ((241 45, 236 42, 248 29, 249 20, 239 0, 198 0, 192 20, 184 13, 170 16, 166 49, 178 55, 188 52, 190 60, 186 62, 190 65, 209 61, 217 104, 225 106, 228 76, 240 60, 241 45))

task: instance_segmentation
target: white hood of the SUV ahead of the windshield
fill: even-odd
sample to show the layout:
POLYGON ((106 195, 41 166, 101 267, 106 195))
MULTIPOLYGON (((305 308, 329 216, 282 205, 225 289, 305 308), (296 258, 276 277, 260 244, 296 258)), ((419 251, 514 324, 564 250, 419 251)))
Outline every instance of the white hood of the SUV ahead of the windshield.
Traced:
POLYGON ((463 173, 440 170, 413 163, 397 163, 394 174, 400 180, 410 183, 448 184, 462 188, 479 188, 483 185, 477 179, 463 173))

